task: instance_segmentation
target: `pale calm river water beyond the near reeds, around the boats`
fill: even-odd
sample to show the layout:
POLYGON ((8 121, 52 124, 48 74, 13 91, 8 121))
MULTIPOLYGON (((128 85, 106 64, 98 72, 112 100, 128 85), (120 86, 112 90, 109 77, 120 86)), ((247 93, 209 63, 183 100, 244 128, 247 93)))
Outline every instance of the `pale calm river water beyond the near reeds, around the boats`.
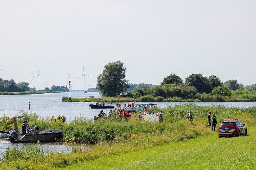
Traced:
MULTIPOLYGON (((71 97, 99 97, 100 95, 96 92, 71 92, 71 97)), ((0 116, 6 114, 7 116, 16 115, 19 111, 27 111, 28 102, 31 103, 31 111, 36 112, 41 117, 50 117, 65 115, 67 121, 73 119, 75 116, 83 115, 89 119, 93 119, 94 115, 98 115, 101 109, 91 109, 88 104, 91 102, 61 102, 62 97, 69 97, 69 93, 48 93, 48 94, 36 94, 36 95, 0 95, 0 116)), ((131 103, 131 102, 130 102, 131 103)), ((122 106, 124 103, 121 103, 122 106)), ((126 102, 128 104, 128 102, 126 102)), ((157 103, 160 107, 167 107, 169 105, 180 105, 181 102, 168 102, 168 103, 157 103)), ((238 106, 238 107, 250 107, 256 106, 256 102, 202 102, 193 103, 198 105, 225 105, 225 106, 238 106)), ((113 106, 116 103, 113 102, 113 106)), ((109 112, 109 109, 103 110, 105 113, 109 112)))

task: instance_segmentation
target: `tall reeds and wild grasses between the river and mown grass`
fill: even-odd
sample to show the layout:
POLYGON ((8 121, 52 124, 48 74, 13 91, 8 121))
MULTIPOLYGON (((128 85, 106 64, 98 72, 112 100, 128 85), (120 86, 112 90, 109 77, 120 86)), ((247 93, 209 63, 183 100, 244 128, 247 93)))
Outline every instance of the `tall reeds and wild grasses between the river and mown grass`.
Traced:
MULTIPOLYGON (((118 116, 91 121, 83 116, 75 117, 67 123, 51 122, 42 119, 35 113, 20 112, 28 118, 31 127, 40 129, 63 129, 63 138, 74 138, 76 143, 93 144, 91 151, 82 151, 76 145, 70 154, 57 152, 42 152, 37 145, 25 149, 8 148, 3 153, 0 168, 2 169, 50 169, 61 168, 77 163, 97 160, 111 155, 120 155, 139 152, 162 144, 171 144, 177 141, 186 141, 205 134, 211 134, 205 128, 206 116, 209 111, 216 113, 217 121, 237 118, 247 127, 256 124, 256 107, 238 108, 225 106, 199 106, 182 104, 168 108, 152 108, 151 112, 163 110, 163 123, 140 122, 136 119, 137 113, 132 114, 129 122, 117 121, 118 116), (186 114, 189 111, 195 114, 194 125, 189 125, 186 114), (44 154, 46 153, 46 154, 44 154), (42 162, 44 162, 42 164, 42 162)), ((20 126, 21 126, 20 122, 20 126)), ((217 126, 219 125, 217 124, 217 126)), ((11 117, 0 118, 0 129, 9 130, 12 127, 11 117)), ((250 130, 248 130, 250 134, 250 130)), ((215 133, 214 139, 217 138, 215 133)), ((203 137, 201 138, 203 139, 203 137)), ((208 152, 208 151, 207 151, 208 152)))

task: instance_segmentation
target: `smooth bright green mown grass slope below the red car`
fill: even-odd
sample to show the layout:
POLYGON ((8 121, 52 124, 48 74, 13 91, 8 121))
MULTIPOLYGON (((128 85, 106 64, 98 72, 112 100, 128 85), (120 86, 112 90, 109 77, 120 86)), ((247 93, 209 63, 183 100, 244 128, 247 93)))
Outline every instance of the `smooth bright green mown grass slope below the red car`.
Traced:
POLYGON ((217 132, 185 142, 108 155, 64 169, 255 169, 256 126, 248 136, 218 138, 217 132))

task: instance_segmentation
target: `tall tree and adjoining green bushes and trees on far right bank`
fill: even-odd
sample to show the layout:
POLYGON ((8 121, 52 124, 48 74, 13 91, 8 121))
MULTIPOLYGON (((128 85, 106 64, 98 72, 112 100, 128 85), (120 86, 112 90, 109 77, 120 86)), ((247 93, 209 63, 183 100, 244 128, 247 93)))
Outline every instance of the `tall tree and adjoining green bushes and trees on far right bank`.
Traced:
POLYGON ((221 82, 219 77, 191 74, 185 82, 176 74, 163 78, 159 86, 128 84, 126 68, 119 60, 104 66, 97 78, 97 91, 102 96, 135 98, 141 102, 224 102, 256 101, 256 83, 244 87, 237 80, 221 82))

